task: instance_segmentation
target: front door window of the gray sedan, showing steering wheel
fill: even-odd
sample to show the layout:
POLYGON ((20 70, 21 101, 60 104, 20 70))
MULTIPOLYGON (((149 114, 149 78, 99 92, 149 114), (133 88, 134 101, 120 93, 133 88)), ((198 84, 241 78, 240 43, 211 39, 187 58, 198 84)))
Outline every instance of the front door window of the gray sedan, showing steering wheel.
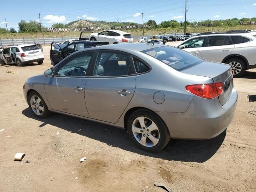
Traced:
POLYGON ((92 53, 74 56, 58 68, 57 76, 85 77, 91 58, 92 53))

